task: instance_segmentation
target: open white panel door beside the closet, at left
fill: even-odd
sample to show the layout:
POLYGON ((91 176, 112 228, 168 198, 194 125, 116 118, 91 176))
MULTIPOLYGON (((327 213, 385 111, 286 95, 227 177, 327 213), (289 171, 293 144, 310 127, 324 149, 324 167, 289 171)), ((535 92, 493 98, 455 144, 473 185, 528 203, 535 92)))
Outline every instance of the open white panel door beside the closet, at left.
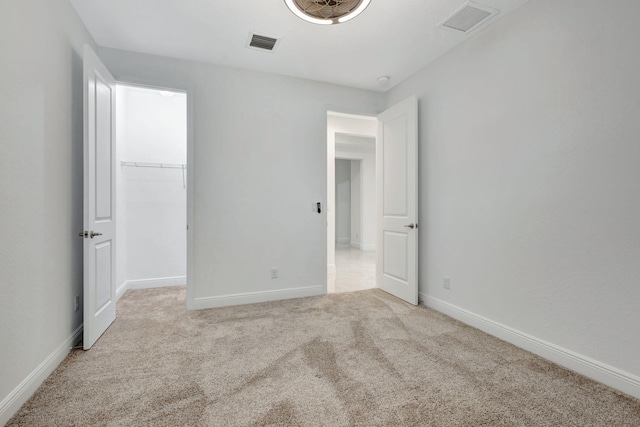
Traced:
POLYGON ((115 80, 84 47, 84 349, 116 318, 115 80))

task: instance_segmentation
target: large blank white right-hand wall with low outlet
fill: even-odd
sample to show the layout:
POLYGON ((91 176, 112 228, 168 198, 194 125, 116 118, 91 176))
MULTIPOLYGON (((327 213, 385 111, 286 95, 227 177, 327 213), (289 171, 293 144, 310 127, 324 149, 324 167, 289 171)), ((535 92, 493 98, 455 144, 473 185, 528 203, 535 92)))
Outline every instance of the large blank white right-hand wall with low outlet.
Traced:
POLYGON ((427 303, 636 396, 639 16, 635 0, 530 1, 387 102, 420 98, 427 303))

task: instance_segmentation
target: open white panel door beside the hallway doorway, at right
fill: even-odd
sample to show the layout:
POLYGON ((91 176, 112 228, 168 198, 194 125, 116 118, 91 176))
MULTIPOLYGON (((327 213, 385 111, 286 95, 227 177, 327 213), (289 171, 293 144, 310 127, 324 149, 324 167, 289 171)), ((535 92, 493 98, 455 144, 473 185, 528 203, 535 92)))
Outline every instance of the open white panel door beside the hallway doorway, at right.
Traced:
POLYGON ((418 101, 378 115, 376 141, 378 239, 376 282, 418 304, 418 101))

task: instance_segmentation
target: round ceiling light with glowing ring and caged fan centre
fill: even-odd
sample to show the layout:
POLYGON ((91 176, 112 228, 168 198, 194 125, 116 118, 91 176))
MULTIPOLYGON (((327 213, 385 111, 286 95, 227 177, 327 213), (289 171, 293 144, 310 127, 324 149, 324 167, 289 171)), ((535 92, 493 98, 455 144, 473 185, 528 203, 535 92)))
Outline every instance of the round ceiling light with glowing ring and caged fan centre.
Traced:
POLYGON ((314 24, 341 24, 364 11, 371 0, 284 0, 298 18, 314 24))

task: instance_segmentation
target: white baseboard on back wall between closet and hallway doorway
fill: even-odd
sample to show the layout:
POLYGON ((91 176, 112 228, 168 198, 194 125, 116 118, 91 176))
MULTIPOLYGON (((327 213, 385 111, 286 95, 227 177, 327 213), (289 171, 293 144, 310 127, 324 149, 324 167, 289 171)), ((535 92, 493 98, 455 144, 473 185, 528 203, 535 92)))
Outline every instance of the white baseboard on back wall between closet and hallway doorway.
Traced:
POLYGON ((292 298, 313 297, 326 294, 325 286, 309 286, 304 288, 278 289, 275 291, 245 292, 241 294, 221 295, 217 297, 195 298, 193 309, 228 307, 241 304, 277 301, 292 298))

